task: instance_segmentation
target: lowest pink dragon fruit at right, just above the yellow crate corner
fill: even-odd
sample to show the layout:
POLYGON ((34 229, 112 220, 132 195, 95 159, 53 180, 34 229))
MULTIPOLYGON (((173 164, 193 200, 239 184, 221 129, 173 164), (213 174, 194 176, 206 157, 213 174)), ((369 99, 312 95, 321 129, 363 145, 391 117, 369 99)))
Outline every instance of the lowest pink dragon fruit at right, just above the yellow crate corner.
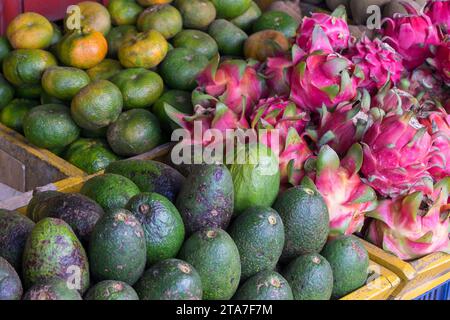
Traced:
POLYGON ((411 193, 382 200, 367 214, 374 218, 366 238, 403 260, 442 251, 450 253, 448 204, 450 178, 434 186, 431 195, 411 193))

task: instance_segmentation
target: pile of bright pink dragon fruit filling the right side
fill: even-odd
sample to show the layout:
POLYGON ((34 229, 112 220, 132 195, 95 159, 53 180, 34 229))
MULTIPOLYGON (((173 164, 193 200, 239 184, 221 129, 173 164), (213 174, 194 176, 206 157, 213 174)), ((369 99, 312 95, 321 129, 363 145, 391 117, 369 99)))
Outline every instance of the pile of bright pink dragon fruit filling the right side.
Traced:
POLYGON ((216 61, 179 123, 278 129, 281 183, 315 182, 331 235, 360 233, 405 260, 448 252, 450 3, 406 9, 373 39, 351 36, 343 7, 314 13, 286 54, 216 61))

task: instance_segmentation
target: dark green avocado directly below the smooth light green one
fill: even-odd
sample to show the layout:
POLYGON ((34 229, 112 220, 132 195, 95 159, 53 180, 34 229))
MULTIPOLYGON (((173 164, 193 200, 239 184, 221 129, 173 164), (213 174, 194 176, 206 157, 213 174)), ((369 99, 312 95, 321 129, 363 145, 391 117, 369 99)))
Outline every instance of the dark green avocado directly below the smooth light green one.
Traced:
POLYGON ((275 268, 284 246, 284 225, 275 210, 249 208, 233 221, 228 232, 239 249, 242 279, 275 268))

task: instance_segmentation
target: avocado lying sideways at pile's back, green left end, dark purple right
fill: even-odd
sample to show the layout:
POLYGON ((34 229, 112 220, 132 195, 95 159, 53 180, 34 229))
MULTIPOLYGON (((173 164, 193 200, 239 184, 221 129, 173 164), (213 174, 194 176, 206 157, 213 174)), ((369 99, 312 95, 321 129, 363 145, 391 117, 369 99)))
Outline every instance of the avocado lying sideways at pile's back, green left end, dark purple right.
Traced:
POLYGON ((120 174, 132 180, 141 192, 156 192, 175 201, 184 177, 172 167, 152 160, 120 160, 111 163, 105 173, 120 174))

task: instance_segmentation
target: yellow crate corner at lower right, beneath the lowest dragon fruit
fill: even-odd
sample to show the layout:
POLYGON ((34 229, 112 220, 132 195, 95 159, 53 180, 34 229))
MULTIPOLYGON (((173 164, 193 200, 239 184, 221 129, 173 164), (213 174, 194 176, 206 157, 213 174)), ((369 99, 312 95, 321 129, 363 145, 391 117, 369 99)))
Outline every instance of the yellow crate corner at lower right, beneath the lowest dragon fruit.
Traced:
POLYGON ((370 259, 394 272, 401 279, 392 299, 412 300, 450 280, 450 255, 434 253, 415 261, 403 261, 364 241, 370 259))

